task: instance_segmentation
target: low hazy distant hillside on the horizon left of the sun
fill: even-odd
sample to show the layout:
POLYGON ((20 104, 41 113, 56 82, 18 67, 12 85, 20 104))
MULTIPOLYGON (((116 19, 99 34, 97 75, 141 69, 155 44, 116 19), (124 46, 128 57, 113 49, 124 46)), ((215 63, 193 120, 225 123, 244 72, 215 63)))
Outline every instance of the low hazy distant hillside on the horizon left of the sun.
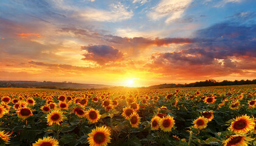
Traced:
POLYGON ((36 82, 36 81, 0 81, 0 88, 48 88, 48 89, 98 89, 110 88, 109 85, 82 84, 71 82, 36 82))

